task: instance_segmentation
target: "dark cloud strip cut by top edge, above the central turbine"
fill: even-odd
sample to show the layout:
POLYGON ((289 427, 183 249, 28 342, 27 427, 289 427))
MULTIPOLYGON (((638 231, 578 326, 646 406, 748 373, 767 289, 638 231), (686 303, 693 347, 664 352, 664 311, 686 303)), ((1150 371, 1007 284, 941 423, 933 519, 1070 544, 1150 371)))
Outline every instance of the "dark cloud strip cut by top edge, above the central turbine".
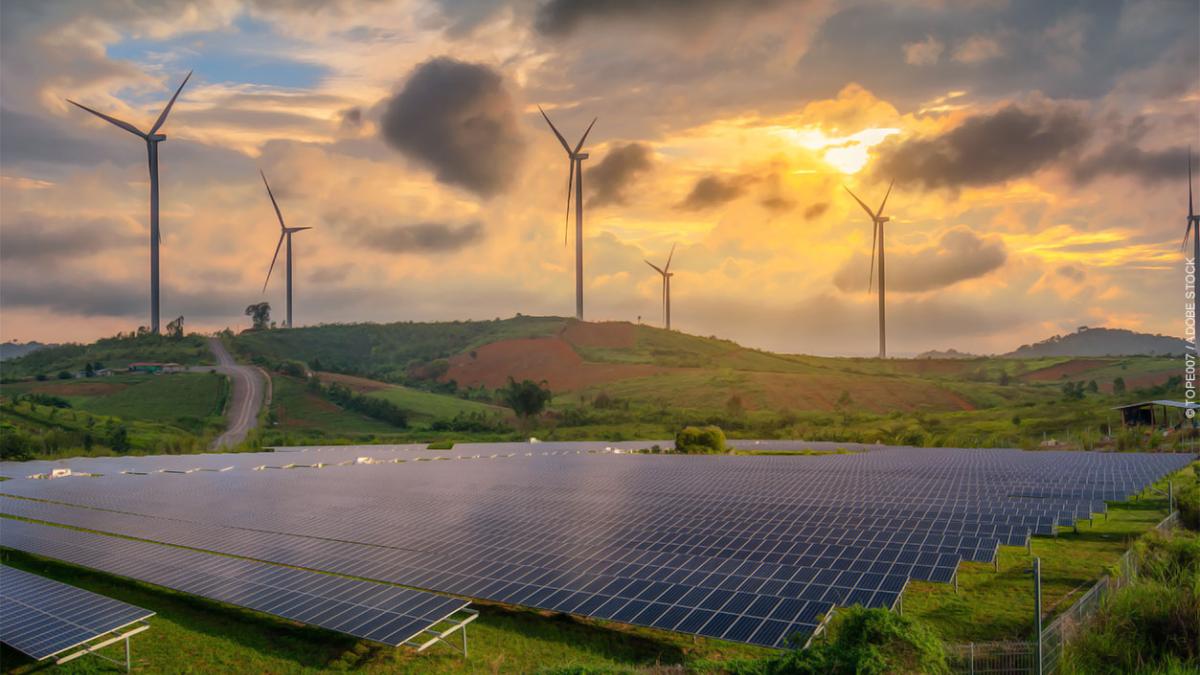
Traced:
POLYGON ((575 32, 592 20, 650 22, 696 28, 726 12, 761 11, 782 0, 548 0, 538 8, 535 25, 544 35, 575 32))

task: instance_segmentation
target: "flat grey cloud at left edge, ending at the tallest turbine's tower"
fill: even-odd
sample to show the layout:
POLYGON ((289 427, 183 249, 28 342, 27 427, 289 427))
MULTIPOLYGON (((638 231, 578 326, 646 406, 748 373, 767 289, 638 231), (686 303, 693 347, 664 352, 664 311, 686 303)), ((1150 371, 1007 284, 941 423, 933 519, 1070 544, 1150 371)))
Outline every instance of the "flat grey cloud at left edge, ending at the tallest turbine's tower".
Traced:
POLYGON ((145 243, 116 219, 56 222, 38 214, 5 215, 0 259, 44 263, 145 243))

